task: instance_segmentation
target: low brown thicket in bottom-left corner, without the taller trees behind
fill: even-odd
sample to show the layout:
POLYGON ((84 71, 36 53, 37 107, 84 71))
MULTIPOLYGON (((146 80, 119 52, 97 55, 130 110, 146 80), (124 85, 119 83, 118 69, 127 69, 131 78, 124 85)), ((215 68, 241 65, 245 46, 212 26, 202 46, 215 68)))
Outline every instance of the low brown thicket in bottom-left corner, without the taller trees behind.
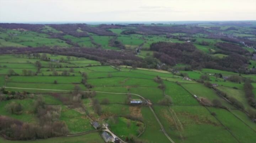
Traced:
POLYGON ((68 128, 66 124, 61 121, 39 125, 24 123, 7 116, 0 116, 0 131, 1 135, 7 139, 28 140, 64 136, 68 133, 68 128))

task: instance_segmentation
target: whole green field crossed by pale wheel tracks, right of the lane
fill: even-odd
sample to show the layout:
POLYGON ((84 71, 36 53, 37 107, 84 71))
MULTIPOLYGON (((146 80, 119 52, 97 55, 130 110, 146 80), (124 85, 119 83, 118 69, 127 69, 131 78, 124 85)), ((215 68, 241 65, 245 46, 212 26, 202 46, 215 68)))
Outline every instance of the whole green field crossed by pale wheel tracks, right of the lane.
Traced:
MULTIPOLYGON (((226 137, 230 137, 229 133, 202 106, 173 106, 171 109, 154 106, 154 109, 166 132, 176 142, 181 141, 181 136, 184 138, 183 142, 216 142, 216 139, 221 142, 226 137), (212 136, 213 132, 214 136, 212 136)), ((225 139, 225 142, 232 141, 234 141, 232 138, 225 139)))

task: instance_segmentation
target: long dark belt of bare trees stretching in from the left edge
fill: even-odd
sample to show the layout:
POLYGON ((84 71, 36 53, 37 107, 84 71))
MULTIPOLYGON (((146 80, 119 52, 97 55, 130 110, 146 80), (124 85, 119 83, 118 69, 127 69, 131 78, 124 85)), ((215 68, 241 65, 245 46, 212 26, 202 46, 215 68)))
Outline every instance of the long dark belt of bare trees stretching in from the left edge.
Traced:
MULTIPOLYGON (((137 57, 131 51, 116 51, 116 50, 105 50, 97 48, 49 48, 49 47, 38 47, 38 48, 15 48, 10 47, 0 48, 0 53, 2 54, 26 54, 26 53, 50 53, 55 55, 65 55, 65 56, 75 56, 75 57, 84 57, 87 59, 100 61, 106 63, 110 60, 117 60, 119 64, 132 65, 137 63, 140 65, 143 62, 143 59, 137 57), (115 55, 115 56, 113 56, 115 55)), ((41 56, 42 58, 42 56, 41 56)), ((49 58, 48 58, 49 59, 49 58)))

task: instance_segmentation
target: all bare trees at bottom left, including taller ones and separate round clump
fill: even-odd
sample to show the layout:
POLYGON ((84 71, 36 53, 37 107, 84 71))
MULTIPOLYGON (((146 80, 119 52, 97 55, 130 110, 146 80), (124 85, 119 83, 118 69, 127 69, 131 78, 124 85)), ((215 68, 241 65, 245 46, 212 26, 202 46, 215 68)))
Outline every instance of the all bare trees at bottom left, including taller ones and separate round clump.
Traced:
MULTIPOLYGON (((7 139, 28 140, 56 136, 68 133, 65 122, 59 121, 59 107, 46 105, 43 98, 38 96, 34 103, 34 113, 39 123, 24 123, 7 116, 0 116, 0 133, 7 139)), ((6 105, 6 110, 11 114, 22 114, 22 104, 11 102, 6 105)))

